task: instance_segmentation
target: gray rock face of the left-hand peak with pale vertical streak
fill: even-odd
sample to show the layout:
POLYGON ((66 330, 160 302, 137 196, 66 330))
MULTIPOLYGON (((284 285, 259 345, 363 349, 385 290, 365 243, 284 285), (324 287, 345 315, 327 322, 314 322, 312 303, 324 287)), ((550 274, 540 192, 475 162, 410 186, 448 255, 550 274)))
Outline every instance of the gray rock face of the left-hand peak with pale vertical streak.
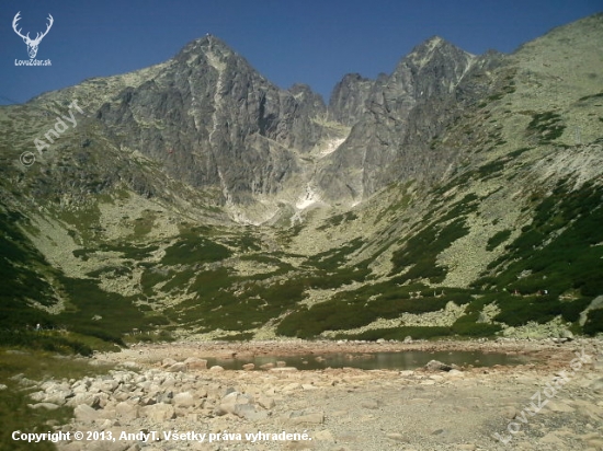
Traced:
POLYGON ((320 139, 325 111, 308 86, 280 90, 216 37, 184 47, 156 78, 128 88, 96 117, 122 147, 164 164, 195 187, 244 204, 298 172, 293 150, 320 139))

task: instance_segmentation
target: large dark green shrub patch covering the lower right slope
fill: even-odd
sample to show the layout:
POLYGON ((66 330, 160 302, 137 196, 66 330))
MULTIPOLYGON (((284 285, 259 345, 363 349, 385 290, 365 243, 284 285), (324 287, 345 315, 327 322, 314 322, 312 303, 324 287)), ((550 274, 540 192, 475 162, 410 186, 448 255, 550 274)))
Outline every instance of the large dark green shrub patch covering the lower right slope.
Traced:
MULTIPOLYGON (((532 223, 492 262, 490 275, 473 284, 499 291, 497 321, 522 325, 561 315, 574 323, 603 293, 603 196, 593 185, 574 192, 570 185, 565 181, 549 196, 534 195, 532 223)), ((587 329, 603 332, 603 324, 590 322, 587 329)))

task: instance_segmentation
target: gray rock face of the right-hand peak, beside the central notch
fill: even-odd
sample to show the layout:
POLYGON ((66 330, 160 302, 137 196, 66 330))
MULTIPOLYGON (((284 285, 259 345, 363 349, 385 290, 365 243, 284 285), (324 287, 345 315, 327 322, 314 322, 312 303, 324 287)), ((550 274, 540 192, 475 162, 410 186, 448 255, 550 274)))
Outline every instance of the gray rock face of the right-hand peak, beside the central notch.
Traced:
POLYGON ((433 37, 402 58, 389 77, 379 77, 363 107, 357 107, 360 100, 352 102, 354 107, 341 102, 344 86, 356 80, 344 78, 331 103, 344 105, 339 112, 348 108, 360 116, 345 142, 320 169, 318 185, 326 196, 361 199, 395 181, 441 177, 456 154, 433 152, 430 143, 460 109, 458 101, 474 99, 476 89, 462 83, 482 65, 482 58, 433 37))

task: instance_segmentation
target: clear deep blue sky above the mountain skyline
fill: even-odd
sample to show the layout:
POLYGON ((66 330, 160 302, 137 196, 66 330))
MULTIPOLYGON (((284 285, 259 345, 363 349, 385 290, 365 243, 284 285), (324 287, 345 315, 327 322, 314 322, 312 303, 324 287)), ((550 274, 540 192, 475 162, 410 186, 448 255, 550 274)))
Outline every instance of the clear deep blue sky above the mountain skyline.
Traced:
POLYGON ((0 104, 164 61, 206 33, 281 88, 307 83, 328 101, 345 73, 389 73, 433 35, 473 54, 510 53, 600 11, 601 0, 2 0, 0 104), (29 59, 12 30, 18 11, 31 37, 54 16, 36 56, 50 67, 15 66, 29 59))

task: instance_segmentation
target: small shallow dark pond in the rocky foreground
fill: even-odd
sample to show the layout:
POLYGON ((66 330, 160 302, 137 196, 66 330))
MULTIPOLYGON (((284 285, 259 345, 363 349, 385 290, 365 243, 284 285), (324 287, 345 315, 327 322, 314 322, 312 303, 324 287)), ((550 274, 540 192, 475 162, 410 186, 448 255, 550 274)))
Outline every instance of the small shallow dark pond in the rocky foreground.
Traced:
POLYGON ((246 363, 254 363, 255 369, 266 363, 277 366, 284 361, 287 367, 299 370, 322 370, 326 368, 359 368, 363 370, 413 370, 422 367, 430 360, 440 360, 447 365, 466 367, 492 367, 494 365, 525 363, 525 357, 509 356, 505 354, 487 354, 480 351, 394 351, 394 352, 337 352, 309 354, 299 356, 255 356, 246 359, 215 359, 207 358, 207 366, 219 365, 227 370, 241 370, 246 363))

